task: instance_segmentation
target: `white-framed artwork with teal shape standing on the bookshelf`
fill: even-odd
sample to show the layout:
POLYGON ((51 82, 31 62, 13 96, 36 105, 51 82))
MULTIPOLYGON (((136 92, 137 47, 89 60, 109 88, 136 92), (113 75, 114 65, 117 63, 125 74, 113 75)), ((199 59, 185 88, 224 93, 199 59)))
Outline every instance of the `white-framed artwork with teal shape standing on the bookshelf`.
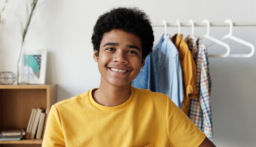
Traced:
MULTIPOLYGON (((26 54, 29 63, 29 84, 45 84, 47 50, 27 50, 26 54)), ((24 66, 28 67, 26 64, 24 62, 24 66)))

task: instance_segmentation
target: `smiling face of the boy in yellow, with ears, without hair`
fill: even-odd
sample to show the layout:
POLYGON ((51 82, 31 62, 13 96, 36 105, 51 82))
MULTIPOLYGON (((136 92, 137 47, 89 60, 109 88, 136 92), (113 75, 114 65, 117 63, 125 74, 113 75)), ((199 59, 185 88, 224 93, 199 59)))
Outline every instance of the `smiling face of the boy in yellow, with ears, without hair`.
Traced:
POLYGON ((113 29, 104 34, 99 53, 94 51, 98 62, 101 84, 131 86, 131 82, 144 66, 141 39, 131 33, 113 29))

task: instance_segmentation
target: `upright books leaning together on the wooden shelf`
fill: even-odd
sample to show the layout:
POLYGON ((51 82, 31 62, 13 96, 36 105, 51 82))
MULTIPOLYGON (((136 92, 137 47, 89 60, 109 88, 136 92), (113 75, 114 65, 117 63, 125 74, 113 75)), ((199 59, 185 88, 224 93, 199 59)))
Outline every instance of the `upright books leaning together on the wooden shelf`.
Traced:
POLYGON ((42 139, 43 132, 46 124, 46 109, 44 108, 33 108, 28 126, 26 129, 26 139, 42 139))

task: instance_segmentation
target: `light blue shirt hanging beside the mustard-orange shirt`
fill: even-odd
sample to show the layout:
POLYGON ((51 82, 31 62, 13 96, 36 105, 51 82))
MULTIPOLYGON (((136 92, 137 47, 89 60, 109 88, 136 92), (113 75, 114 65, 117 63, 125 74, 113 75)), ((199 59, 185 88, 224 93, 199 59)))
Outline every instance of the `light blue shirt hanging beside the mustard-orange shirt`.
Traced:
POLYGON ((159 89, 167 94, 172 101, 181 108, 183 100, 182 70, 179 61, 179 53, 170 40, 170 35, 153 47, 153 55, 157 67, 159 89))

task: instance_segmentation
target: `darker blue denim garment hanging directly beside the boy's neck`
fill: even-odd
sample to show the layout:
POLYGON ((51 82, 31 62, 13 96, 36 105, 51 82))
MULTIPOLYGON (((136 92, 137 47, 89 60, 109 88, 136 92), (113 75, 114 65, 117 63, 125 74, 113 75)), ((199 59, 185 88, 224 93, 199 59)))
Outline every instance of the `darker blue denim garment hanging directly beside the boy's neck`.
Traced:
POLYGON ((132 85, 136 88, 160 92, 157 68, 152 53, 146 57, 145 65, 140 70, 139 75, 132 81, 132 85))

